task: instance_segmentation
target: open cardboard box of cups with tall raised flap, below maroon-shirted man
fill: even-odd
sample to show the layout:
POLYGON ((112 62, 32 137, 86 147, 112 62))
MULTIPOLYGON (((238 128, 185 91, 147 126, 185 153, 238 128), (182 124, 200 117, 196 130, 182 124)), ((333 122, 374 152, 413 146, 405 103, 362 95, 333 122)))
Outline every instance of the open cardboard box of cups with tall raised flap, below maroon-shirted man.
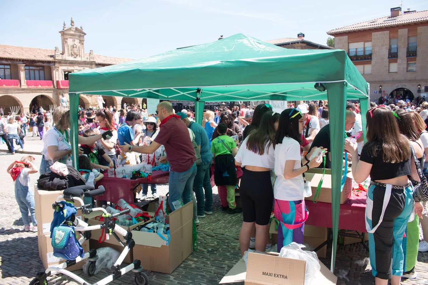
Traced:
MULTIPOLYGON (((140 259, 145 270, 172 273, 193 252, 193 202, 166 215, 169 244, 157 233, 132 230, 135 241, 134 259, 140 259)), ((167 238, 166 235, 163 235, 167 238)))

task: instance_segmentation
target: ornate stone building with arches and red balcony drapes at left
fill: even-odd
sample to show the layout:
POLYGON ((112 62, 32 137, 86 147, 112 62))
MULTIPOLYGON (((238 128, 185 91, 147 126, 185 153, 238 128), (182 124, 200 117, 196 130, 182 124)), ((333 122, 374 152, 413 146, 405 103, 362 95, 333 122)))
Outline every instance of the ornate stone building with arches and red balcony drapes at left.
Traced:
MULTIPOLYGON (((59 106, 59 98, 65 94, 68 100, 68 74, 84 69, 98 68, 130 61, 131 59, 101 56, 92 50, 85 53, 83 27, 64 22, 61 34, 61 50, 36 47, 17 47, 0 44, 0 106, 5 114, 30 112, 33 105, 45 110, 59 106), (19 111, 16 109, 19 108, 19 111)), ((140 105, 136 98, 103 97, 104 106, 120 108, 123 102, 140 105)), ((81 95, 83 108, 97 106, 97 96, 81 95)))

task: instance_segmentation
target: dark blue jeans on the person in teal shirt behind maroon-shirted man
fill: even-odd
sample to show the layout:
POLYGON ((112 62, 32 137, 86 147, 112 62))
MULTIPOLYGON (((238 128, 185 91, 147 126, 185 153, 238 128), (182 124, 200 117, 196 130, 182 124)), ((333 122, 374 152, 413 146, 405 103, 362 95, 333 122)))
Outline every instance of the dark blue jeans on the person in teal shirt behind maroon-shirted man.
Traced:
POLYGON ((198 204, 198 215, 203 215, 205 211, 212 212, 213 210, 213 189, 210 183, 210 167, 211 162, 198 165, 195 180, 193 181, 193 190, 195 191, 198 204))

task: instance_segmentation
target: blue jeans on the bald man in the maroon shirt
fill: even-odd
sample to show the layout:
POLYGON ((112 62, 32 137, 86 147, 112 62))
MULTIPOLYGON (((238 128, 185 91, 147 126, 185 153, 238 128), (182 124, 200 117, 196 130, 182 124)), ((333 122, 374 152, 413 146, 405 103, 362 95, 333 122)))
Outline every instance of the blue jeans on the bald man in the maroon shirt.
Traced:
POLYGON ((186 170, 184 172, 175 172, 169 170, 169 199, 168 203, 171 207, 171 211, 174 211, 176 208, 174 207, 174 202, 179 201, 183 205, 189 203, 192 200, 192 187, 193 187, 193 179, 196 176, 196 164, 186 170))

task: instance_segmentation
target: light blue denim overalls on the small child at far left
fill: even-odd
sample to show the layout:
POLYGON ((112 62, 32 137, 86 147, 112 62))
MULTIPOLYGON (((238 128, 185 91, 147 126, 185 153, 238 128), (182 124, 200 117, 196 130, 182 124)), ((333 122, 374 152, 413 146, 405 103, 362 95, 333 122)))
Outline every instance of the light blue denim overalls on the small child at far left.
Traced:
POLYGON ((30 225, 30 219, 28 219, 28 212, 31 215, 31 221, 33 226, 37 225, 36 216, 34 214, 34 195, 28 186, 22 185, 18 179, 15 180, 15 199, 21 212, 22 222, 24 226, 30 225))

